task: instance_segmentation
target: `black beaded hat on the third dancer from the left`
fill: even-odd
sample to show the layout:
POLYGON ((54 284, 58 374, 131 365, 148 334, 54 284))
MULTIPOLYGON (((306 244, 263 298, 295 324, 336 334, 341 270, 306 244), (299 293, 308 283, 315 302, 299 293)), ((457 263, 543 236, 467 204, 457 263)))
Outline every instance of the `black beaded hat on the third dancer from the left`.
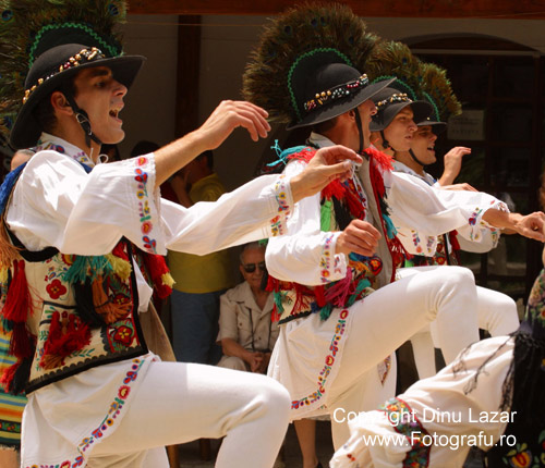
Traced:
MULTIPOLYGON (((376 84, 384 83, 377 82, 376 84)), ((422 122, 432 113, 432 106, 425 101, 413 101, 405 93, 395 88, 384 88, 373 97, 377 113, 373 115, 370 128, 372 132, 385 130, 393 118, 404 108, 411 107, 413 121, 422 122)))

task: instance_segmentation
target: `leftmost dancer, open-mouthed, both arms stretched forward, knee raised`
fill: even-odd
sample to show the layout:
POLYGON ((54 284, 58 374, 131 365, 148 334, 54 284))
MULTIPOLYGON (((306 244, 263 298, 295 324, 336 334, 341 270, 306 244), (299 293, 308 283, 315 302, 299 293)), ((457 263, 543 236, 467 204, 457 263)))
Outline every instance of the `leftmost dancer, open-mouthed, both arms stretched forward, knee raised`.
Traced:
POLYGON ((101 143, 124 136, 120 111, 144 62, 121 54, 112 34, 124 2, 2 8, 11 42, 1 66, 26 75, 24 91, 2 96, 20 108, 11 144, 36 151, 7 177, 0 204, 1 313, 17 359, 3 383, 28 397, 22 466, 167 467, 165 445, 220 436, 218 467, 272 466, 286 390, 264 375, 161 362, 141 327, 153 311, 148 281, 167 288, 167 247, 205 254, 282 232, 295 201, 347 172, 327 162, 361 158, 330 148, 301 177, 261 177, 190 209, 164 201, 159 185, 233 128, 265 137, 266 112, 226 101, 154 153, 102 164, 101 143))

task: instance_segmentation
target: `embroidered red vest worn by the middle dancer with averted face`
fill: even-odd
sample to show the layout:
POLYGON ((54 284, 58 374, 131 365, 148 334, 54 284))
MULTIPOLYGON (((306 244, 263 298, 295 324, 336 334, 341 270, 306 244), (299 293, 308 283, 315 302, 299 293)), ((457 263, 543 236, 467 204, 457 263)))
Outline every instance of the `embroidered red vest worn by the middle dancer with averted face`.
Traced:
MULTIPOLYGON (((292 153, 289 159, 310 161, 315 152, 316 149, 304 148, 292 153)), ((360 169, 363 187, 359 187, 359 181, 351 178, 344 183, 334 181, 322 190, 320 229, 325 232, 341 231, 351 220, 365 220, 367 217, 384 234, 377 254, 373 257, 363 257, 352 253, 348 258, 344 279, 328 282, 329 270, 331 267, 335 269, 329 263, 334 261, 334 255, 329 247, 331 237, 328 237, 322 260, 323 285, 305 286, 269 276, 268 290, 274 292, 276 318, 279 318, 279 323, 314 312, 319 312, 322 319, 326 320, 332 308, 350 307, 376 288, 390 283, 395 267, 401 264, 402 247, 395 235, 384 200, 383 172, 391 171, 389 159, 373 149, 366 150, 364 157, 364 163, 360 169)))

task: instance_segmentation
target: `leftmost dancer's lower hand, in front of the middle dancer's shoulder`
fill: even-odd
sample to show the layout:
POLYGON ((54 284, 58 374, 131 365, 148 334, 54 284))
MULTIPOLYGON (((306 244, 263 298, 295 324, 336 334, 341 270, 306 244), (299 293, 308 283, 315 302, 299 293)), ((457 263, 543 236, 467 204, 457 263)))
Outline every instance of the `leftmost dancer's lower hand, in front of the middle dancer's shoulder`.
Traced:
POLYGON ((355 151, 344 146, 320 148, 305 170, 291 178, 293 201, 314 195, 336 178, 346 180, 352 173, 352 163, 362 162, 355 151))

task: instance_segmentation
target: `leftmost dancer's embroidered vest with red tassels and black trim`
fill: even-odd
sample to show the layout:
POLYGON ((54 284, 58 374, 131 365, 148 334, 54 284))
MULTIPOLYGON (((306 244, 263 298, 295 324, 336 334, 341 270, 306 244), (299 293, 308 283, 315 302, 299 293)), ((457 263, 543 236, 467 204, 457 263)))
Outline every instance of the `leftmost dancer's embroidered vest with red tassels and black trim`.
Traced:
POLYGON ((55 247, 26 250, 4 221, 21 171, 10 173, 0 189, 0 309, 17 359, 1 383, 15 394, 148 352, 133 255, 159 297, 171 292, 162 257, 133 253, 125 239, 106 256, 64 255, 55 247))

